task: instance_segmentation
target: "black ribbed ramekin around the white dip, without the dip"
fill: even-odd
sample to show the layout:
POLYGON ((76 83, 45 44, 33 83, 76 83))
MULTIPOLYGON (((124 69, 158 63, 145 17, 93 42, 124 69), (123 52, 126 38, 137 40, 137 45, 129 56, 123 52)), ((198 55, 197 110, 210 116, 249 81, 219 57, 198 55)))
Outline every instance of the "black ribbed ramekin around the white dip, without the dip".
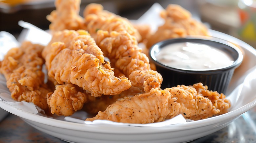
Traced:
MULTIPOLYGON (((164 40, 156 43, 150 48, 149 57, 156 65, 156 70, 162 75, 163 83, 161 88, 174 87, 177 85, 193 85, 195 83, 203 83, 208 86, 208 90, 218 91, 219 93, 226 92, 229 82, 233 76, 234 70, 242 63, 242 52, 233 44, 226 40, 213 37, 200 38, 178 38, 164 40), (161 64, 157 61, 156 55, 161 48, 166 45, 181 42, 193 42, 199 44, 206 44, 218 48, 229 54, 234 62, 224 68, 209 69, 209 70, 190 70, 182 68, 173 68, 161 64)), ((218 58, 218 57, 216 57, 218 58)))

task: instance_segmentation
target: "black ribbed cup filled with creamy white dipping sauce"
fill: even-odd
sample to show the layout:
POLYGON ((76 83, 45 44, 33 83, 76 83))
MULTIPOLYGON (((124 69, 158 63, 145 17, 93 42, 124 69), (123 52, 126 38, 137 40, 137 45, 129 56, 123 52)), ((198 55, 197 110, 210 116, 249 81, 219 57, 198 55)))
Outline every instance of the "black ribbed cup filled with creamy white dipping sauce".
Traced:
POLYGON ((162 75, 161 88, 203 83, 208 90, 226 92, 243 55, 232 43, 214 37, 164 40, 150 48, 149 58, 162 75))

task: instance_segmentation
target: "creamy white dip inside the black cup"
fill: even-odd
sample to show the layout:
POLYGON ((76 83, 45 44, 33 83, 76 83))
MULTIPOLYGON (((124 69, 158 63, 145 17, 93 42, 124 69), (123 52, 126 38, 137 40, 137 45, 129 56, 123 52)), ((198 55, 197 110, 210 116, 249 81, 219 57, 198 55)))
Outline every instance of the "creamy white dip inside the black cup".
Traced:
POLYGON ((231 65, 234 61, 224 51, 209 45, 182 42, 163 47, 156 55, 161 64, 183 69, 216 69, 231 65))

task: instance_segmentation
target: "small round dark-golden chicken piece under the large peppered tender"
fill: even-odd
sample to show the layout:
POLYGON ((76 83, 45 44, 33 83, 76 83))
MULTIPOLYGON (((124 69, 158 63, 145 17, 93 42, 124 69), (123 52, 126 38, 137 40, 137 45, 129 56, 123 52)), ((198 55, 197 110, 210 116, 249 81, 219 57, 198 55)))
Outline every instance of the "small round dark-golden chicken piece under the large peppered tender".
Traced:
POLYGON ((90 94, 76 85, 57 85, 53 93, 47 94, 47 103, 52 114, 71 116, 82 109, 89 96, 90 94))

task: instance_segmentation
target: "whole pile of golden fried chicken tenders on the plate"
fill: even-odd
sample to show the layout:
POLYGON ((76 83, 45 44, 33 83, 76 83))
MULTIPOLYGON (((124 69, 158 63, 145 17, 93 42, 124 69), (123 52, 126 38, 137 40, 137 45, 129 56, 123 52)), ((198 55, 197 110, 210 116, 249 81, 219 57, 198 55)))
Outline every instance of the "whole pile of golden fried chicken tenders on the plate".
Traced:
POLYGON ((199 120, 228 112, 230 101, 225 95, 207 90, 202 83, 161 89, 162 76, 147 56, 150 46, 165 39, 208 34, 179 5, 170 4, 160 13, 165 23, 155 33, 100 4, 87 5, 83 17, 80 0, 56 0, 55 6, 47 16, 53 35, 50 43, 44 47, 24 41, 0 63, 14 100, 32 102, 48 114, 70 116, 84 110, 96 114, 86 119, 90 121, 142 124, 179 114, 199 120), (140 48, 139 42, 146 48, 140 48))

